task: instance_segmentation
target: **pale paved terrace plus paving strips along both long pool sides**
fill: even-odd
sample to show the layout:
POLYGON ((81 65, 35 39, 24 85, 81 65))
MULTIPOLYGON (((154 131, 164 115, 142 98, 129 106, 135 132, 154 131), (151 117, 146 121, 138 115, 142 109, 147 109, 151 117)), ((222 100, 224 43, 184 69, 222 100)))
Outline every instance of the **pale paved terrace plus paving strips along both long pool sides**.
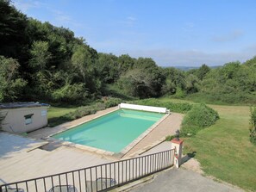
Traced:
MULTIPOLYGON (((77 147, 63 144, 47 146, 49 141, 45 139, 56 132, 62 132, 84 121, 90 121, 116 109, 117 107, 107 108, 97 112, 95 115, 87 115, 78 120, 59 125, 58 127, 41 128, 28 133, 28 137, 0 132, 0 184, 17 182, 34 177, 43 177, 116 161, 115 157, 108 156, 104 153, 99 154, 77 147)), ((153 151, 147 151, 161 143, 166 135, 174 134, 180 126, 182 117, 182 115, 175 113, 169 115, 153 131, 141 139, 124 158, 139 156, 143 152, 147 154, 148 152, 159 152, 159 150, 165 151, 170 149, 170 143, 163 143, 152 149, 153 151)))

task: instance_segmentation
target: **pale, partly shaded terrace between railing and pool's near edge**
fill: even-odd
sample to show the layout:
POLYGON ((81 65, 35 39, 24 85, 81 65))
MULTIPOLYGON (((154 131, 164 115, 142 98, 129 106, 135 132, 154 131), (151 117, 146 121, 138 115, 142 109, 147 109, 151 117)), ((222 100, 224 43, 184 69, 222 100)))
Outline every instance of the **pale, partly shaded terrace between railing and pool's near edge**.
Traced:
POLYGON ((44 141, 0 132, 0 184, 83 169, 112 161, 77 148, 59 146, 52 152, 36 148, 44 141))

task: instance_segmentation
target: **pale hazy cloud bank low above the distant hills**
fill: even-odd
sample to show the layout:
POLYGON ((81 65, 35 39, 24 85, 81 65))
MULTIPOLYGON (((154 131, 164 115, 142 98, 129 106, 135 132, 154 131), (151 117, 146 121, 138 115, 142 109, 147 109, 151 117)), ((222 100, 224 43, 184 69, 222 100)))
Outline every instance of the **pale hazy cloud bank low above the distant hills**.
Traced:
POLYGON ((130 52, 130 56, 150 57, 161 66, 199 66, 206 65, 224 65, 225 63, 237 61, 244 62, 256 55, 256 45, 245 48, 240 53, 205 53, 203 51, 174 51, 171 49, 156 49, 148 51, 130 52))

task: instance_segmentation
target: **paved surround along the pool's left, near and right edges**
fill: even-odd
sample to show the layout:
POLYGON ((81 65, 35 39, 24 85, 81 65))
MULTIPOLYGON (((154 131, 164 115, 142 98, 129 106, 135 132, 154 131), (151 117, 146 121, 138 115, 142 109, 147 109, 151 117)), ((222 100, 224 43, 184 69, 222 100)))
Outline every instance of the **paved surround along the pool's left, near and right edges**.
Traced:
POLYGON ((134 139, 132 143, 130 143, 122 150, 122 152, 119 153, 107 152, 95 147, 83 146, 60 139, 54 139, 51 137, 54 134, 64 132, 68 129, 81 125, 84 122, 95 120, 100 116, 108 115, 109 113, 112 113, 116 110, 118 110, 117 106, 112 108, 106 108, 104 110, 97 111, 97 113, 94 115, 86 115, 82 118, 79 118, 78 120, 69 121, 57 127, 44 127, 34 132, 28 133, 28 137, 34 139, 44 139, 49 143, 59 142, 62 146, 75 147, 80 150, 97 153, 99 155, 104 155, 109 158, 129 158, 137 156, 142 152, 146 152, 153 146, 159 145, 159 143, 165 140, 165 137, 167 135, 175 133, 175 131, 180 127, 181 121, 183 119, 183 115, 177 113, 165 114, 158 122, 156 122, 152 127, 148 128, 147 131, 140 134, 137 139, 134 139))

